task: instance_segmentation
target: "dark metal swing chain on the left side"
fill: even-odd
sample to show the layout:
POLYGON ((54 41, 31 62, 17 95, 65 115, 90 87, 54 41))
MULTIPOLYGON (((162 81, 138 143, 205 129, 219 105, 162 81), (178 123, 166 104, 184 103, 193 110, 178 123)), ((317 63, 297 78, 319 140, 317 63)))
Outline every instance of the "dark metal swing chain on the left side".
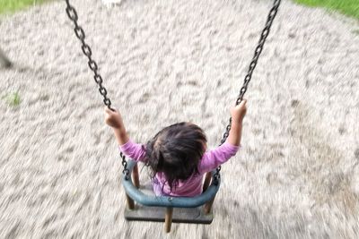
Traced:
MULTIPOLYGON (((72 6, 70 4, 70 0, 65 0, 65 2, 66 2, 67 16, 71 21, 74 22, 74 34, 81 41, 81 44, 82 44, 81 49, 83 50, 83 54, 86 55, 88 58, 88 65, 89 65, 90 69, 92 70, 92 72, 94 73, 93 79, 99 86, 100 94, 103 97, 103 103, 105 104, 106 107, 109 107, 109 109, 113 110, 111 108, 111 101, 107 97, 107 90, 102 85, 103 80, 102 80, 101 74, 99 73, 99 67, 98 67, 97 63, 92 59, 92 49, 85 42, 85 40, 84 40, 85 34, 83 31, 83 28, 77 22, 78 21, 77 12, 74 9, 74 6, 72 6)), ((122 152, 120 152, 120 157, 122 158, 122 166, 124 167, 124 170, 122 171, 122 173, 125 175, 125 179, 128 180, 129 170, 127 169, 126 157, 122 154, 122 152)))

